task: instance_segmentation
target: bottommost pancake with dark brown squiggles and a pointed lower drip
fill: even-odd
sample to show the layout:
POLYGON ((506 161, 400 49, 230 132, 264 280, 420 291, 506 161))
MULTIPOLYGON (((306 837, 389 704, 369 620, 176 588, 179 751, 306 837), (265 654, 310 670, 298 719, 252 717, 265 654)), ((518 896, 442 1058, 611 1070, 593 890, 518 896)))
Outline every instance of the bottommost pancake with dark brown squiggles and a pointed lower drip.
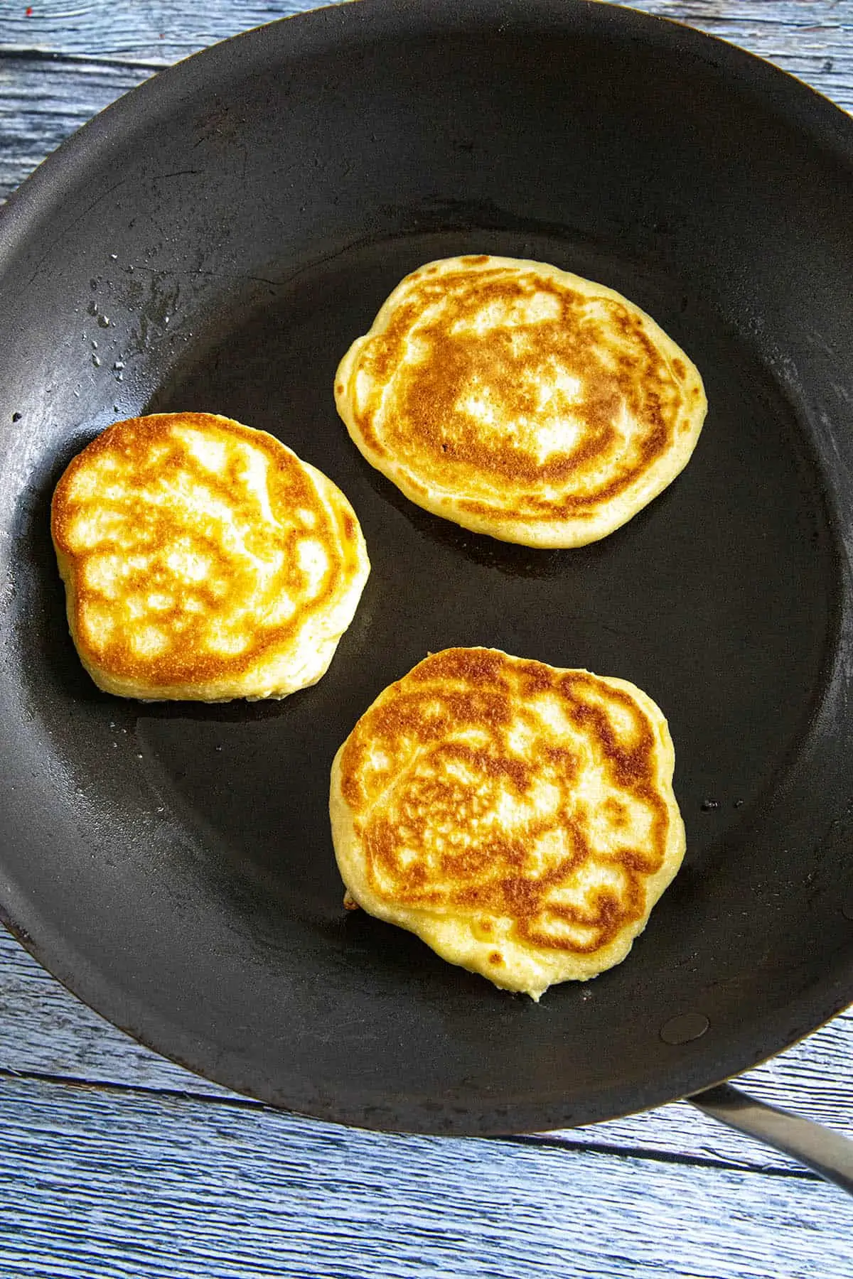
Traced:
POLYGON ((538 1000, 620 963, 684 856, 673 743, 624 679, 448 648, 335 756, 345 903, 538 1000))

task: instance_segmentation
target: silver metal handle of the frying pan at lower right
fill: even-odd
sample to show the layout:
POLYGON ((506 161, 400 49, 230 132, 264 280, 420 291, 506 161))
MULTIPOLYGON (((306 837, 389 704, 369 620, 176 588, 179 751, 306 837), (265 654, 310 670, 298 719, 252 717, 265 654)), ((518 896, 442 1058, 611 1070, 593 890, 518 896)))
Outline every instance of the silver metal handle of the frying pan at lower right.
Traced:
POLYGON ((730 1083, 705 1088, 685 1100, 730 1128, 775 1146, 853 1195, 853 1141, 840 1133, 756 1101, 730 1083))

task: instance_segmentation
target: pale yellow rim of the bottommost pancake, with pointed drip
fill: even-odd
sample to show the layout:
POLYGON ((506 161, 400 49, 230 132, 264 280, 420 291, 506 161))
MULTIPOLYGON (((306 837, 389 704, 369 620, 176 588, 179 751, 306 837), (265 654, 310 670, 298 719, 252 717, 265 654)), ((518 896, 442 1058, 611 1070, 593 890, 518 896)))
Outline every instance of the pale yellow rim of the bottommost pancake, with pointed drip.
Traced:
MULTIPOLYGON (((501 650, 492 650, 501 652, 501 650)), ((504 656, 508 656, 504 654, 504 656)), ((554 666, 560 674, 592 674, 582 668, 554 666)), ((404 677, 405 678, 405 677, 404 677)), ((524 941, 515 941, 512 938, 500 938, 500 949, 504 955, 505 967, 512 969, 509 980, 500 980, 492 966, 489 963, 489 954, 495 949, 494 936, 480 940, 474 936, 469 926, 460 927, 459 920, 473 920, 474 914, 482 911, 463 912, 453 908, 453 913, 436 912, 428 909, 416 909, 412 907, 396 908, 394 904, 377 898, 367 883, 364 874, 364 857, 361 849, 361 840, 356 831, 352 808, 341 793, 340 785, 340 760, 347 747, 347 741, 340 746, 331 765, 331 785, 329 794, 329 816, 331 821, 333 843, 335 859, 344 881, 347 893, 352 900, 367 911, 368 914, 386 923, 395 923, 398 927, 414 932, 426 941, 432 950, 449 963, 467 968, 469 972, 480 973, 503 990, 519 991, 529 995, 538 1003, 540 996, 549 986, 563 981, 588 981, 600 972, 615 967, 628 955, 637 936, 648 923, 648 917, 655 904, 678 874, 687 847, 684 834, 684 821, 682 819, 678 801, 673 793, 673 774, 675 771, 675 751, 669 733, 669 725, 660 707, 636 684, 625 679, 616 679, 606 675, 596 675, 596 679, 611 688, 628 693, 648 718, 653 728, 657 752, 657 773, 655 785, 657 793, 664 798, 669 815, 668 840, 664 859, 660 870, 655 875, 645 879, 646 911, 645 914, 633 923, 627 925, 616 938, 606 946, 596 950, 595 954, 574 954, 551 952, 546 948, 532 946, 524 941)), ((396 680, 390 684, 364 711, 368 714, 373 706, 391 693, 396 687, 396 680)))

